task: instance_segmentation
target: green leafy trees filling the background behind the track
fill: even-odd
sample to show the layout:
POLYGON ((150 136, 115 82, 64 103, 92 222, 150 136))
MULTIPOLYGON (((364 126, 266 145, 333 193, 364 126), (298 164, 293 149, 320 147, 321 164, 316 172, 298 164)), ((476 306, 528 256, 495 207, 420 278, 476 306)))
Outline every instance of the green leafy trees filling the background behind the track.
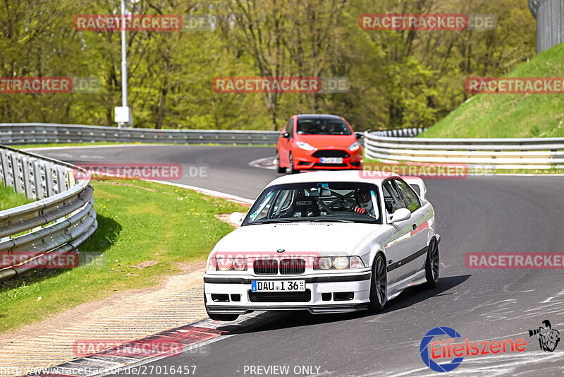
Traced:
MULTIPOLYGON (((1 76, 93 76, 95 94, 1 94, 0 122, 114 125, 121 33, 78 32, 73 16, 120 12, 118 0, 6 0, 1 76)), ((306 112, 356 131, 431 126, 467 100, 468 76, 500 76, 534 56, 522 0, 139 1, 138 14, 207 15, 209 30, 128 32, 136 127, 272 129, 306 112), (491 31, 364 31, 363 13, 493 13, 491 31), (225 94, 216 76, 345 76, 347 93, 225 94)))

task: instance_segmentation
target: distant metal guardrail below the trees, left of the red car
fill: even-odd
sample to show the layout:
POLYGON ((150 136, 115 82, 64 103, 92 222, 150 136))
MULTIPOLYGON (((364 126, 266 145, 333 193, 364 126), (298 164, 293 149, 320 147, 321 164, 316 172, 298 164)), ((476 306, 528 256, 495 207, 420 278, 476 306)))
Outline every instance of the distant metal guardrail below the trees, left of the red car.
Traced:
POLYGON ((80 124, 0 124, 0 144, 39 143, 178 143, 178 144, 276 144, 278 131, 167 130, 117 128, 80 124))

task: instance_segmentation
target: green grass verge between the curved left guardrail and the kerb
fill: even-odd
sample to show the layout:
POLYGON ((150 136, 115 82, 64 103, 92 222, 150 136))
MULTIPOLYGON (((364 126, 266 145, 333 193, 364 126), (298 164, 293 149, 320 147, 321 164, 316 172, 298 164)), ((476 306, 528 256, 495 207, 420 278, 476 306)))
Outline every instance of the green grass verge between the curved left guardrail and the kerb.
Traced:
POLYGON ((231 232, 231 225, 214 215, 247 210, 147 181, 92 181, 92 186, 99 225, 80 251, 103 255, 73 270, 36 270, 29 277, 0 283, 0 332, 114 292, 157 285, 163 276, 180 271, 178 263, 204 260, 231 232), (158 263, 131 267, 141 262, 158 263))

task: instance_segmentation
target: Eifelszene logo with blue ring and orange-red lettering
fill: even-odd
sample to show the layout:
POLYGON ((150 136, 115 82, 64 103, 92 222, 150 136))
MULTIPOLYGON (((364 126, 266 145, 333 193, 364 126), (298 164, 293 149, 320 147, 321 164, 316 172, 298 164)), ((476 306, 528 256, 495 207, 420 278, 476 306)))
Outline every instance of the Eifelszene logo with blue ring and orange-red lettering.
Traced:
MULTIPOLYGON (((538 331, 540 333, 540 328, 538 331)), ((419 354, 425 365, 429 366, 432 371, 441 373, 450 372, 458 368, 464 358, 468 356, 489 356, 490 354, 499 353, 508 354, 524 352, 525 349, 527 349, 527 340, 522 337, 515 341, 513 339, 504 339, 482 340, 479 342, 470 342, 468 338, 465 338, 464 342, 453 343, 453 340, 458 337, 462 337, 462 335, 453 328, 446 326, 429 330, 429 332, 424 335, 419 345, 419 354), (439 336, 446 336, 449 339, 446 340, 446 342, 445 340, 434 340, 434 337, 439 336), (446 362, 439 364, 441 361, 446 362)), ((556 347, 556 345, 554 347, 556 347)))

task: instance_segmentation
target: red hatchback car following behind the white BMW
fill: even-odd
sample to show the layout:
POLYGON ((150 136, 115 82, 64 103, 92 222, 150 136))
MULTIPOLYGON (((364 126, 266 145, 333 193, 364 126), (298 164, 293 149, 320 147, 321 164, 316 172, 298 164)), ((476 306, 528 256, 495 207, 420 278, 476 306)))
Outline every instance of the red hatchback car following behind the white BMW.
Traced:
POLYGON ((342 116, 294 115, 276 145, 278 173, 305 169, 361 169, 362 145, 342 116))

